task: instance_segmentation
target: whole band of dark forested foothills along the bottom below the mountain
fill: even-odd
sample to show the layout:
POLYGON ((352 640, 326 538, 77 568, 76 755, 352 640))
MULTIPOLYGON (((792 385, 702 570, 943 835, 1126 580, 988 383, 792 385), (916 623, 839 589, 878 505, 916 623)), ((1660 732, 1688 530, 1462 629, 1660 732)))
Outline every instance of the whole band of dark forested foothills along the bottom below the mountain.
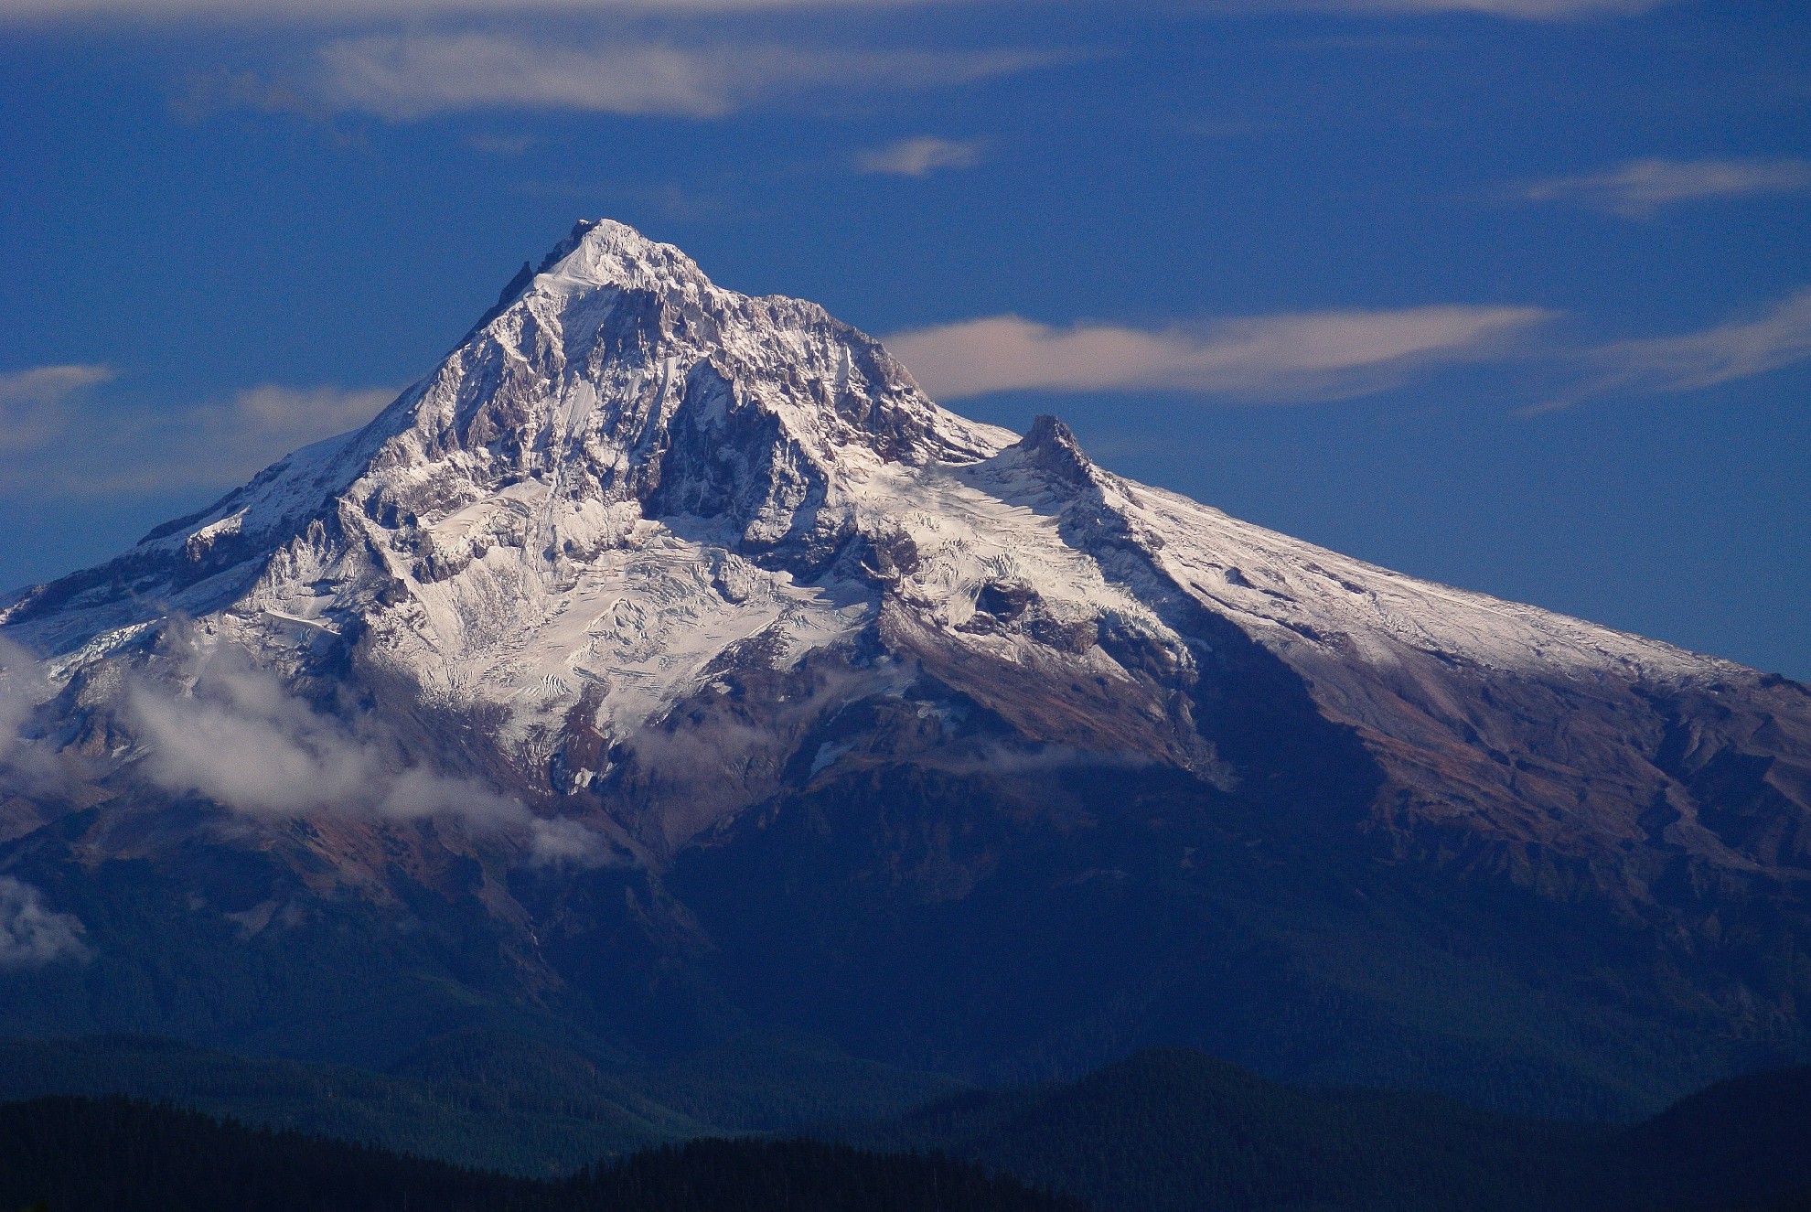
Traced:
POLYGON ((1203 1053, 1152 1049, 1079 1082, 958 1091, 904 1114, 826 1118, 793 1138, 773 1125, 804 1107, 884 1105, 924 1078, 802 1040, 607 1074, 576 1056, 460 1036, 409 1069, 373 1074, 149 1040, 13 1042, 0 1047, 0 1098, 33 1085, 141 1098, 0 1105, 0 1208, 51 1199, 53 1212, 205 1212, 234 1192, 235 1203, 217 1207, 880 1212, 1049 1207, 1023 1203, 1049 1188, 1096 1212, 1791 1212, 1811 1192, 1811 1069, 1720 1082, 1652 1120, 1605 1125, 1402 1091, 1291 1087, 1203 1053), (158 1109, 147 1094, 190 1109, 158 1109), (719 1123, 743 1116, 766 1134, 733 1140, 733 1129, 706 1129, 674 1103, 719 1123), (194 1107, 250 1111, 261 1127, 194 1107), (610 1114, 623 1107, 697 1136, 572 1159, 616 1130, 610 1114), (366 1143, 283 1130, 297 1125, 366 1143), (369 1145, 380 1134, 491 1172, 397 1158, 369 1145), (551 1165, 556 1156, 569 1163, 551 1165), (496 1158, 540 1161, 505 1178, 496 1158), (945 1203, 911 1203, 920 1179, 945 1203), (165 1190, 183 1203, 156 1203, 165 1190), (346 1192, 369 1201, 348 1203, 346 1192), (819 1194, 831 1203, 799 1203, 819 1194), (947 1203, 958 1194, 969 1203, 947 1203), (293 1203, 304 1196, 317 1203, 293 1203), (782 1201, 761 1201, 770 1196, 782 1201))

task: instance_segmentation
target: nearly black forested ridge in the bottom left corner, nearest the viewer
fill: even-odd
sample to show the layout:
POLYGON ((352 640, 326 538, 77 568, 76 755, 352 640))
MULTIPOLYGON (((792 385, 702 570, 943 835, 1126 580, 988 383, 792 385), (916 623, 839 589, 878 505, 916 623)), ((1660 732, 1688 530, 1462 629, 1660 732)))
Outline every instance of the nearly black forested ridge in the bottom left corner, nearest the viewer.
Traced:
POLYGON ((49 1212, 1085 1212, 951 1158, 701 1140, 507 1178, 123 1098, 0 1105, 0 1207, 49 1212))

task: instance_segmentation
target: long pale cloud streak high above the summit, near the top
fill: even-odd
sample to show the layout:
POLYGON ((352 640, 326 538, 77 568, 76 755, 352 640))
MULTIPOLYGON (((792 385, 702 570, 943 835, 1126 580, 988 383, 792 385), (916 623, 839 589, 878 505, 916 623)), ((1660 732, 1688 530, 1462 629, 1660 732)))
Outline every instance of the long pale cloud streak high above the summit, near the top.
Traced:
POLYGON ((389 120, 473 109, 723 118, 815 89, 927 89, 1049 62, 1034 51, 844 51, 781 43, 570 45, 496 33, 340 38, 321 49, 328 105, 389 120))

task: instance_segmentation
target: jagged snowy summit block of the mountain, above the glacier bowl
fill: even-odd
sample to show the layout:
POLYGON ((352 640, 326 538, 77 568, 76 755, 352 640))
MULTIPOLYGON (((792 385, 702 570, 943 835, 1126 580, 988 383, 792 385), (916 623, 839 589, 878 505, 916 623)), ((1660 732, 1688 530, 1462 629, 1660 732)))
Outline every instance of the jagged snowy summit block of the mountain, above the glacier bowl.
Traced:
POLYGON ((503 476, 554 475, 567 495, 590 484, 661 511, 730 507, 744 525, 764 513, 764 533, 835 498, 838 473, 860 476, 867 455, 974 462, 1011 442, 940 409, 878 341, 815 303, 717 286, 612 219, 578 223, 424 388, 409 442, 424 453, 493 467, 502 455, 503 476), (460 404, 491 380, 476 411, 460 404))

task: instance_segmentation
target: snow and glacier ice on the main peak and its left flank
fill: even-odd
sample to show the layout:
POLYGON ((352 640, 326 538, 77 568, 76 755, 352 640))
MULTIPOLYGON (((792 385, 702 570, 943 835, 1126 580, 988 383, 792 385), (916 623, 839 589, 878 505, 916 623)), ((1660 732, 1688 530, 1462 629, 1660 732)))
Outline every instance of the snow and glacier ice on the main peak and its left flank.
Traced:
POLYGON ((4 620, 60 676, 170 614, 275 661, 357 625, 435 703, 532 721, 608 685, 599 719, 632 726, 733 643, 784 632, 797 654, 858 627, 866 594, 810 572, 889 507, 886 471, 1011 440, 820 308, 583 225, 364 431, 4 620))

